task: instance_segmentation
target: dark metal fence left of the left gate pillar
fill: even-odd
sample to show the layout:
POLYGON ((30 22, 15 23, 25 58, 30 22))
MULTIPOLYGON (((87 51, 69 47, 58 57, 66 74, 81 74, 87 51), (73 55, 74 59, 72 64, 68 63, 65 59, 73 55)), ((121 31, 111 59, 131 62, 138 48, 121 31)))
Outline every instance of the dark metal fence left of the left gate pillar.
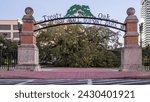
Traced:
POLYGON ((0 50, 0 70, 13 70, 17 64, 17 52, 0 50))

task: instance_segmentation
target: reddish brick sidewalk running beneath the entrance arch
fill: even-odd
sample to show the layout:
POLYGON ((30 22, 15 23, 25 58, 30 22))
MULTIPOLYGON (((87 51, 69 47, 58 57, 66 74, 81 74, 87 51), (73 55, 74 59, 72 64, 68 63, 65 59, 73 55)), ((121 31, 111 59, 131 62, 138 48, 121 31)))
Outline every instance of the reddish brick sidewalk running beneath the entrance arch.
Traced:
POLYGON ((43 71, 0 71, 0 78, 31 79, 150 79, 150 72, 118 72, 101 68, 58 68, 43 71))

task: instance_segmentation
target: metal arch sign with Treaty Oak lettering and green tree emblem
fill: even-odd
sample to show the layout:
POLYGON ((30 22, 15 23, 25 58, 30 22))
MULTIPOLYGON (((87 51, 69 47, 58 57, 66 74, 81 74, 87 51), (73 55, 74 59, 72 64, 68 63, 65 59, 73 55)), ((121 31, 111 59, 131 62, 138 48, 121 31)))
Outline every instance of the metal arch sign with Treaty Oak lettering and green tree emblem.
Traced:
POLYGON ((88 5, 79 5, 79 4, 71 6, 67 10, 65 16, 56 13, 55 15, 50 16, 44 15, 43 18, 44 18, 43 21, 35 23, 35 25, 39 25, 38 26, 39 28, 35 29, 35 31, 61 25, 90 24, 90 25, 100 25, 110 27, 125 32, 126 26, 124 23, 111 19, 109 14, 99 13, 98 16, 95 17, 90 11, 90 7, 88 5))

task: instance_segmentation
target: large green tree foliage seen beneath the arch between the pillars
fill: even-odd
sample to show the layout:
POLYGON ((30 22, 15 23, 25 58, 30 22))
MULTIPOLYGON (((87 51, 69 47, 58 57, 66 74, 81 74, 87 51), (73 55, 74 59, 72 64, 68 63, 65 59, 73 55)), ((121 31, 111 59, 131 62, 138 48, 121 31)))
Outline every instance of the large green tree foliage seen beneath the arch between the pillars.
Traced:
POLYGON ((37 36, 40 62, 57 67, 117 67, 118 34, 100 26, 69 25, 37 36))

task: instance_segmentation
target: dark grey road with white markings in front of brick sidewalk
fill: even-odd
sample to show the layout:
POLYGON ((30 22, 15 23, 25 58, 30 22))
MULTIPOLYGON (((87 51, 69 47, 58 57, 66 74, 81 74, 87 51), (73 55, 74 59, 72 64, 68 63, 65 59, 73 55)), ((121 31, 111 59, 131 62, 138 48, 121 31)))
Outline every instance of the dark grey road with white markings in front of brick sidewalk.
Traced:
POLYGON ((150 79, 0 79, 0 85, 150 85, 150 79))

